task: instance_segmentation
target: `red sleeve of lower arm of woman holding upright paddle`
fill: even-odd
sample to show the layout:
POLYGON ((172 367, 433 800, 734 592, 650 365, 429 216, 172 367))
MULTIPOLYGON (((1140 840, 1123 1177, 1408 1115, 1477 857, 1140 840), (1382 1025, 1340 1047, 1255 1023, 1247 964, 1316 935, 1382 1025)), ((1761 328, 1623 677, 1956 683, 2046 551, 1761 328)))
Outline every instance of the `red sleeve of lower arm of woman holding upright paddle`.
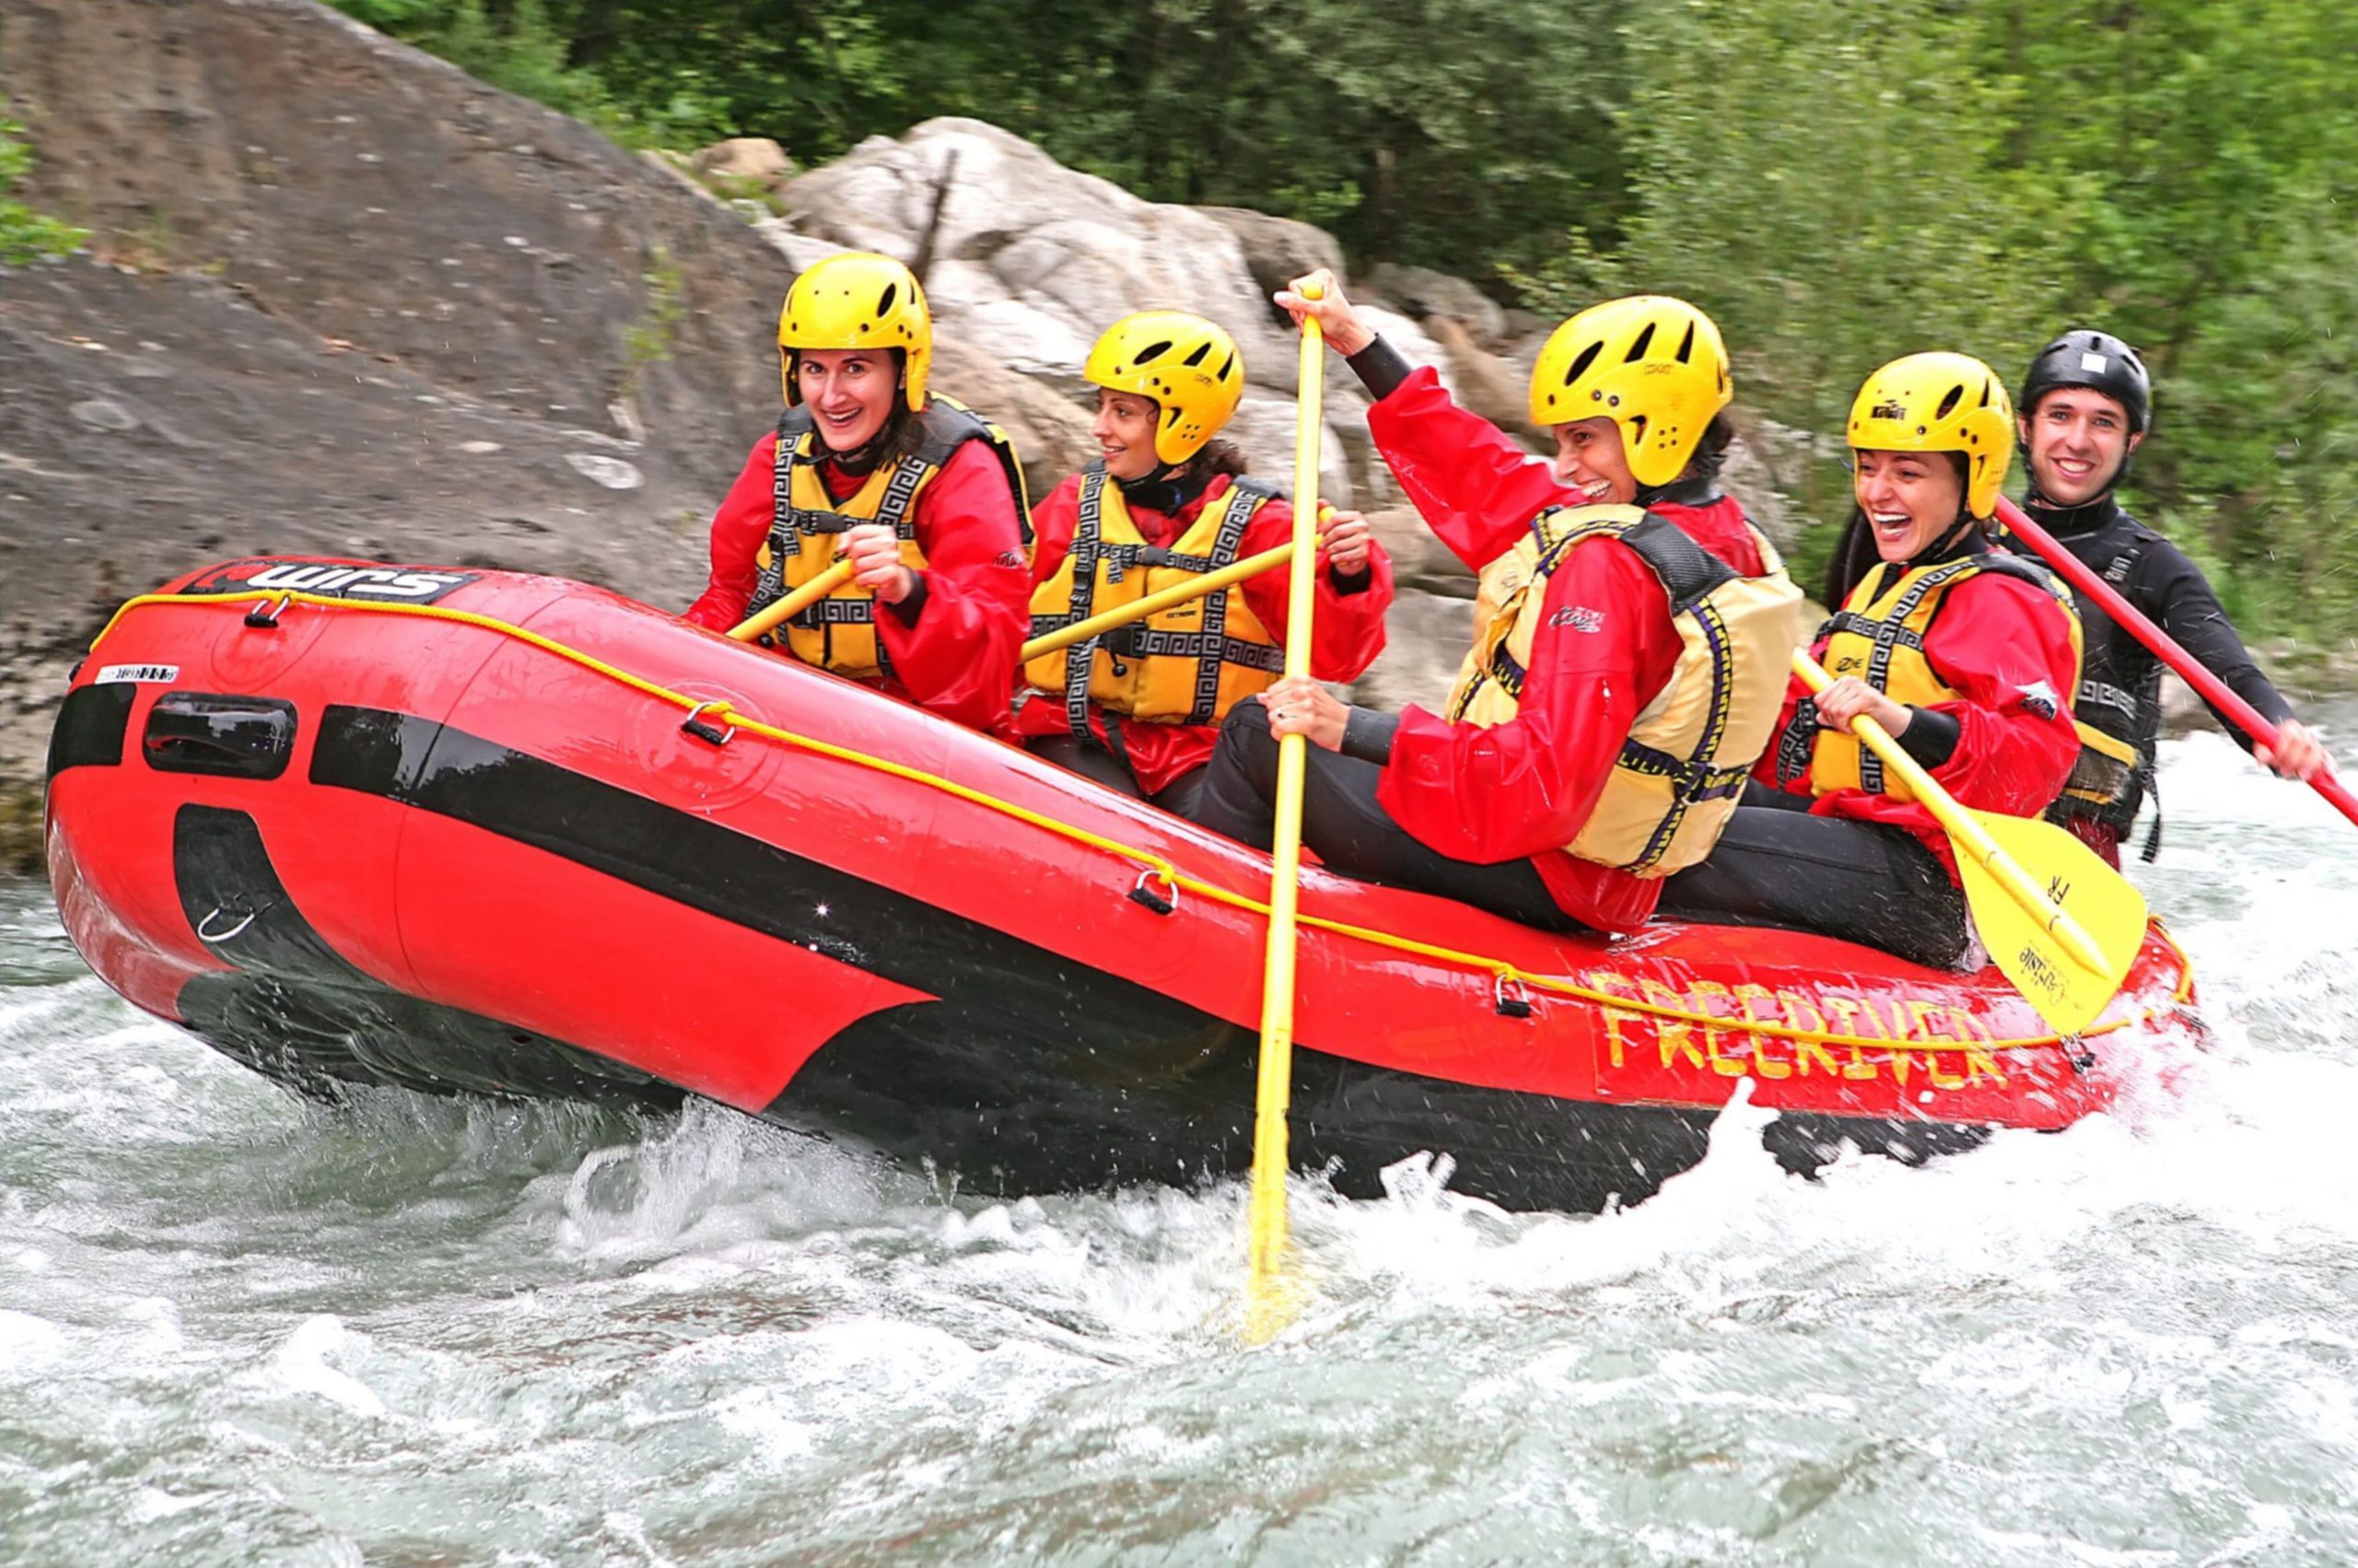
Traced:
MULTIPOLYGON (((1570 844, 1646 703, 1679 663, 1662 585, 1620 540, 1573 547, 1547 580, 1514 719, 1481 729, 1405 707, 1377 804, 1457 861, 1570 844)), ((1349 733, 1349 731, 1346 731, 1349 733)))

